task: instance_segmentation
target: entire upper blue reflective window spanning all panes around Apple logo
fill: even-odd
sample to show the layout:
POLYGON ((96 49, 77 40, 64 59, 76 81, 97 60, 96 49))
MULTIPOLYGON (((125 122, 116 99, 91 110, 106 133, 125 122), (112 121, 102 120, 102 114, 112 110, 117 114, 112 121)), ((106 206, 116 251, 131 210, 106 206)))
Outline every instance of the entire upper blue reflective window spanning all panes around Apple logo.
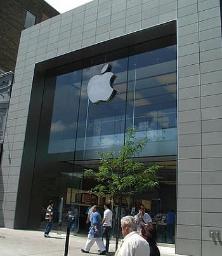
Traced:
POLYGON ((98 150, 119 149, 124 131, 134 126, 138 138, 148 138, 141 156, 176 154, 176 46, 108 64, 116 76, 109 102, 91 102, 88 95, 91 79, 98 79, 98 99, 106 93, 110 81, 97 85, 105 77, 104 63, 56 76, 48 152, 96 159, 98 150))

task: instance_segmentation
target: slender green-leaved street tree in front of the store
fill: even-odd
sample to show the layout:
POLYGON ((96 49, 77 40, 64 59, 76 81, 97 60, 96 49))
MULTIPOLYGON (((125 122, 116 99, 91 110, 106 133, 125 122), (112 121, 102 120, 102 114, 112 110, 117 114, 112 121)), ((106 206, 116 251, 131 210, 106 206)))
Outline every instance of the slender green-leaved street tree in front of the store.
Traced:
MULTIPOLYGON (((100 196, 110 194, 112 198, 119 198, 118 223, 121 219, 122 196, 134 195, 158 185, 156 171, 159 166, 145 166, 134 161, 134 157, 143 151, 147 144, 147 138, 136 140, 136 132, 133 127, 127 128, 125 144, 119 154, 114 158, 115 152, 98 152, 100 165, 98 170, 86 169, 84 175, 98 182, 91 192, 97 192, 100 196)), ((119 241, 119 226, 117 227, 116 248, 119 241)))

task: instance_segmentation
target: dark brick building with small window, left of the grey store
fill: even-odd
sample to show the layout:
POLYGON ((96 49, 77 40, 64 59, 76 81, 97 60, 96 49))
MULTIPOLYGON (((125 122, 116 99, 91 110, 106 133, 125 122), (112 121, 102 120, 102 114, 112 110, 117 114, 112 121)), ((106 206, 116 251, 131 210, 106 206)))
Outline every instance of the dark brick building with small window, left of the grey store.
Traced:
POLYGON ((58 15, 43 0, 0 0, 0 156, 22 30, 58 15))

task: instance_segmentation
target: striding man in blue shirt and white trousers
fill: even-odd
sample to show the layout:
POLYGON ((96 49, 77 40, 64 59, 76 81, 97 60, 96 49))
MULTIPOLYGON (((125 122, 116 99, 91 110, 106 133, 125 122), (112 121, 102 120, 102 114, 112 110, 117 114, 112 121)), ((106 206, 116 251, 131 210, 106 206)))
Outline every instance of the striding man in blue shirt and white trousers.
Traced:
POLYGON ((103 243, 103 240, 101 238, 102 231, 101 231, 101 215, 98 212, 98 206, 94 205, 92 207, 92 219, 91 219, 91 227, 89 229, 88 238, 86 240, 86 246, 84 249, 81 249, 82 252, 89 253, 89 250, 91 249, 91 246, 96 244, 98 245, 98 248, 100 249, 100 255, 105 255, 107 253, 105 249, 105 245, 103 243))

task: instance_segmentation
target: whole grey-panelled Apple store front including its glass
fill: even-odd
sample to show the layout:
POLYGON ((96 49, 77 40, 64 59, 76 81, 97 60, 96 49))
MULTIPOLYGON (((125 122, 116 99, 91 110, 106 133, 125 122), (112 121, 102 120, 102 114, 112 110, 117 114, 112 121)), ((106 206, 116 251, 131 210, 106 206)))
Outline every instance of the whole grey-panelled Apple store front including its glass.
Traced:
POLYGON ((72 212, 71 232, 86 234, 88 208, 102 213, 110 201, 115 237, 119 199, 90 194, 96 183, 84 170, 98 168, 98 151, 118 156, 134 127, 138 140, 148 138, 135 161, 160 166, 159 187, 122 198, 122 215, 142 203, 158 243, 219 255, 210 234, 220 234, 222 217, 221 6, 183 2, 94 0, 23 30, 1 159, 1 227, 43 230, 54 199, 55 231, 66 231, 72 212), (171 209, 168 239, 157 215, 171 209))

